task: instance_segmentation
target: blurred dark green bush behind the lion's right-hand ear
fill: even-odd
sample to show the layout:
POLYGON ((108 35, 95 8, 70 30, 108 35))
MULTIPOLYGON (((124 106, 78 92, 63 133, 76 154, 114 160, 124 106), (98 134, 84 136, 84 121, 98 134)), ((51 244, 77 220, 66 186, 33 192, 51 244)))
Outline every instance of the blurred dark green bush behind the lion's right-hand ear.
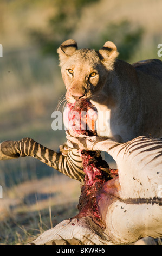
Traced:
POLYGON ((90 44, 91 48, 98 50, 106 41, 112 41, 118 48, 119 59, 129 61, 141 42, 144 29, 133 28, 128 20, 119 23, 109 23, 99 36, 98 42, 90 44))

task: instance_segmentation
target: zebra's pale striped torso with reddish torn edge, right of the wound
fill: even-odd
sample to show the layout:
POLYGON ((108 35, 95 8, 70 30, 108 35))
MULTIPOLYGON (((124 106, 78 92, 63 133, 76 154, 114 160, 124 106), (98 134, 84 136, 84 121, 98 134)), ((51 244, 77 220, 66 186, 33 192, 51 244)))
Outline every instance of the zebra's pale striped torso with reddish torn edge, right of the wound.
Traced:
POLYGON ((116 161, 119 176, 106 181, 96 195, 109 240, 127 244, 162 237, 162 139, 140 136, 116 143, 98 136, 67 138, 70 147, 103 150, 116 161))

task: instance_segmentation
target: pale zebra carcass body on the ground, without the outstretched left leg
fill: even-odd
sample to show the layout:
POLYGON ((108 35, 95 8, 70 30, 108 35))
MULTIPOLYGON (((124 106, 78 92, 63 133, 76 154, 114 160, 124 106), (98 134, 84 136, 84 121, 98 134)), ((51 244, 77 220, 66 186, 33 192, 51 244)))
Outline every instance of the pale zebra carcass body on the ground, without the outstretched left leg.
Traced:
MULTIPOLYGON (((141 136, 127 143, 100 137, 67 136, 69 147, 105 150, 118 165, 118 176, 106 181, 89 200, 100 215, 84 205, 74 218, 64 220, 33 243, 53 245, 161 244, 162 237, 162 139, 141 136), (156 239, 153 239, 156 238, 156 239)), ((92 205, 91 204, 91 205, 92 205)))

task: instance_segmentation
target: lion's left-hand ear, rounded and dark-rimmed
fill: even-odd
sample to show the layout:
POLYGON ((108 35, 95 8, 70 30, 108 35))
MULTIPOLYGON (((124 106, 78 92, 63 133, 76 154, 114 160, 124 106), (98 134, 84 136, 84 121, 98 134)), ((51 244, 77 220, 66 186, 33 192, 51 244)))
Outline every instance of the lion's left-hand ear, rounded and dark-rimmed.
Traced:
POLYGON ((57 50, 60 59, 60 66, 62 66, 76 50, 77 42, 75 40, 69 39, 64 41, 57 50))

